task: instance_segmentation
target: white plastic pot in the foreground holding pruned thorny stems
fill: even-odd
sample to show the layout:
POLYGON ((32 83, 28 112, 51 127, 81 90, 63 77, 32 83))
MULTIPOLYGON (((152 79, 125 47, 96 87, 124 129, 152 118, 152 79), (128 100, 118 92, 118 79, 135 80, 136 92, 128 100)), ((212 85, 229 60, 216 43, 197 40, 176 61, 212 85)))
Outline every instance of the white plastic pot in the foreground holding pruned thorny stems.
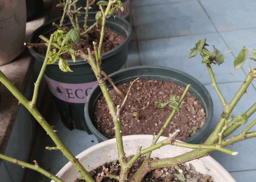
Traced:
MULTIPOLYGON (((158 142, 165 140, 167 137, 161 136, 158 142)), ((152 143, 152 135, 129 135, 123 137, 124 152, 126 156, 136 154, 139 144, 142 144, 142 149, 147 148, 152 143)), ((152 152, 151 157, 167 158, 175 157, 182 153, 191 151, 190 148, 177 147, 173 145, 166 145, 152 152)), ((110 139, 101 142, 93 147, 80 153, 76 158, 79 158, 80 163, 85 166, 87 171, 97 168, 98 166, 111 162, 118 159, 116 139, 110 139)), ((234 178, 224 169, 216 160, 212 157, 207 156, 200 158, 199 160, 193 160, 187 162, 191 163, 195 170, 201 172, 202 174, 210 175, 213 177, 214 181, 228 181, 235 182, 234 178)), ((57 174, 59 178, 63 181, 74 181, 80 178, 81 175, 78 173, 77 169, 68 162, 57 174)), ((51 181, 54 182, 54 181, 51 181)))

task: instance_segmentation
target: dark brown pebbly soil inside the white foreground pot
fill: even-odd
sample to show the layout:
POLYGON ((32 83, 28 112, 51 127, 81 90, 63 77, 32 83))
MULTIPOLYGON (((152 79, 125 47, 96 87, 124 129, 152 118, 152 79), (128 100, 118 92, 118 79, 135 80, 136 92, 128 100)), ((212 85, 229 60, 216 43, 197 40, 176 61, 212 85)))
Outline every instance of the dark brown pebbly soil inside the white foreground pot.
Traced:
MULTIPOLYGON (((128 160, 131 159, 132 157, 133 156, 129 156, 128 160)), ((133 164, 128 174, 128 180, 135 174, 135 172, 137 172, 137 170, 143 163, 144 159, 145 156, 142 156, 133 164)), ((107 172, 109 172, 112 175, 119 176, 121 172, 121 166, 118 166, 118 164, 118 160, 115 162, 105 163, 102 166, 99 166, 98 168, 90 171, 89 174, 94 178, 95 181, 98 180, 98 178, 100 178, 101 176, 106 175, 107 172)), ((179 165, 179 168, 182 169, 183 171, 183 174, 186 178, 185 182, 213 182, 211 176, 207 176, 201 174, 200 172, 196 172, 191 164, 189 166, 181 164, 179 165)), ((179 172, 172 167, 160 168, 148 172, 148 174, 146 174, 146 176, 143 178, 141 182, 181 182, 174 174, 179 174, 179 172)), ((75 182, 84 181, 84 179, 79 178, 75 180, 75 182)), ((110 177, 104 177, 101 180, 101 182, 118 182, 118 180, 110 177)))

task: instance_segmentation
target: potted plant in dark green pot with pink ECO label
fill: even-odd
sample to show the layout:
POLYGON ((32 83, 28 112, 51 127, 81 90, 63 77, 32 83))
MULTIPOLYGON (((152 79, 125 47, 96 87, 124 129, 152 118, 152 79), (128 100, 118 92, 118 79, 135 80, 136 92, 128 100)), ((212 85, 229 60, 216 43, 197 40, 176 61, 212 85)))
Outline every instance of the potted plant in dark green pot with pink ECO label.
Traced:
MULTIPOLYGON (((76 1, 64 1, 65 4, 60 4, 59 6, 63 7, 65 11, 63 12, 63 16, 57 19, 52 20, 51 22, 41 26, 37 30, 33 32, 33 34, 29 38, 29 43, 39 43, 40 35, 46 36, 50 35, 57 30, 57 28, 61 30, 66 30, 67 27, 76 27, 79 30, 79 26, 81 27, 80 35, 84 36, 84 31, 89 31, 92 28, 95 28, 96 25, 100 26, 102 12, 91 12, 89 13, 90 6, 94 3, 94 1, 87 1, 87 8, 85 8, 86 12, 79 12, 81 7, 76 8, 76 13, 72 11, 71 7, 77 7, 76 1), (72 5, 73 4, 73 5, 72 5), (68 14, 65 16, 65 14, 68 14), (96 20, 96 19, 97 20, 96 20), (65 24, 64 24, 65 23, 65 24), (52 26, 52 25, 55 26, 52 26), (82 30, 84 29, 84 30, 82 30)), ((105 3, 106 4, 106 3, 105 3)), ((99 6, 99 5, 97 5, 99 6)), ((103 5, 100 5, 104 8, 103 5)), ((114 14, 115 10, 118 9, 116 6, 112 6, 109 10, 109 13, 114 14)), ((122 8, 123 10, 123 8, 122 8)), ((102 9, 103 11, 103 9, 102 9)), ((105 27, 110 28, 117 35, 116 37, 107 37, 110 38, 107 41, 119 41, 119 35, 124 37, 124 41, 117 46, 116 48, 106 51, 102 54, 102 70, 107 74, 118 71, 123 67, 126 63, 128 56, 128 43, 131 39, 132 29, 130 24, 121 17, 118 16, 110 16, 107 18, 105 27)), ((99 30, 99 29, 98 29, 99 30)), ((75 32, 72 32, 75 34, 75 32)), ((91 34, 90 34, 91 35, 91 34)), ((100 35, 100 34, 99 34, 100 35)), ((97 36, 99 36, 97 35, 97 36)), ((111 35, 112 36, 112 35, 111 35)), ((107 38, 104 37, 104 40, 107 38)), ((87 37, 81 39, 82 42, 85 41, 87 37)), ((94 37, 93 37, 94 38, 94 37)), ((99 41, 98 37, 98 41, 99 41)), ((88 39, 87 39, 88 40, 88 39)), ((114 46, 116 43, 114 42, 114 46)), ((40 44, 36 44, 40 46, 40 44)), ((85 45, 86 46, 86 45, 85 45)), ((107 48, 107 46, 105 46, 107 48)), ((75 49, 75 48, 73 48, 75 49)), ((86 50, 86 49, 85 49, 86 50)), ((35 58, 37 64, 43 65, 45 56, 40 55, 35 49, 29 49, 30 54, 35 58)), ((59 68, 59 61, 56 61, 52 64, 47 65, 45 71, 45 79, 48 83, 48 86, 54 95, 55 104, 60 112, 61 120, 63 124, 69 128, 77 128, 84 129, 89 134, 90 131, 87 128, 84 118, 84 103, 86 101, 87 95, 90 92, 91 88, 96 85, 97 80, 94 76, 93 71, 91 70, 90 65, 85 62, 83 59, 76 59, 74 61, 72 58, 67 60, 67 63, 70 65, 70 69, 73 71, 63 72, 59 68), (86 79, 84 79, 86 78, 86 79), (84 122, 83 122, 84 121, 84 122)))

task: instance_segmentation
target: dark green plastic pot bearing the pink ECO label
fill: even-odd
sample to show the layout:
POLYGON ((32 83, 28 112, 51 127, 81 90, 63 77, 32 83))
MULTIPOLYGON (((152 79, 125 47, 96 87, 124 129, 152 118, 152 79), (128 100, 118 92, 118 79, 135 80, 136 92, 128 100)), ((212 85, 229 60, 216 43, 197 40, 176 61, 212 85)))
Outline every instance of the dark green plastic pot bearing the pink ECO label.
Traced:
MULTIPOLYGON (((84 23, 84 15, 82 14, 79 17, 80 26, 84 23)), ((46 36, 56 31, 57 28, 52 27, 53 22, 59 24, 60 18, 52 20, 35 30, 30 36, 29 42, 38 43, 40 41, 39 35, 46 36)), ((93 23, 95 23, 95 13, 89 13, 88 26, 93 23)), ((71 26, 67 16, 65 17, 65 25, 71 26)), ((102 54, 102 70, 106 74, 111 74, 118 71, 126 63, 132 29, 125 19, 118 16, 115 19, 114 17, 108 18, 105 25, 117 34, 126 37, 121 45, 102 54)), ((35 58, 36 63, 43 65, 45 57, 38 54, 34 49, 29 49, 29 51, 35 58)), ((67 60, 67 62, 73 72, 62 72, 58 65, 59 61, 56 61, 52 65, 47 65, 45 78, 55 96, 54 101, 59 109, 63 124, 71 130, 73 128, 87 130, 90 134, 85 124, 84 103, 91 88, 98 82, 89 63, 83 59, 76 60, 75 63, 73 60, 67 60)))

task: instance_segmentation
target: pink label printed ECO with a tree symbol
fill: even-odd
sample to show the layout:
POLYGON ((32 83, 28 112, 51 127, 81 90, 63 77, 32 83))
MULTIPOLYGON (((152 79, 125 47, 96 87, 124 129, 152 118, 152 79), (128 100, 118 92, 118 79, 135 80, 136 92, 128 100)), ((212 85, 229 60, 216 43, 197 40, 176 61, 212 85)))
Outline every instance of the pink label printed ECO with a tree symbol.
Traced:
POLYGON ((44 74, 51 93, 62 101, 71 103, 85 103, 91 89, 98 81, 83 84, 67 84, 50 79, 44 74))

